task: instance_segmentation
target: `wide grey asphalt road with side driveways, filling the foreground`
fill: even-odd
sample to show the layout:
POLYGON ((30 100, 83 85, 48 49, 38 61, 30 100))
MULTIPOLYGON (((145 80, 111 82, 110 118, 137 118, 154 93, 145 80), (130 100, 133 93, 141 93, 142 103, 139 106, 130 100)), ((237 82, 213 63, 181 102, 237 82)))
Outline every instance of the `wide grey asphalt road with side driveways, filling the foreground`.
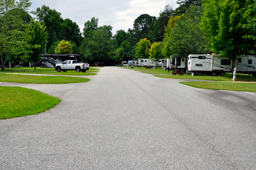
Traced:
POLYGON ((0 170, 255 170, 256 93, 103 67, 78 84, 15 84, 60 98, 0 121, 0 170))

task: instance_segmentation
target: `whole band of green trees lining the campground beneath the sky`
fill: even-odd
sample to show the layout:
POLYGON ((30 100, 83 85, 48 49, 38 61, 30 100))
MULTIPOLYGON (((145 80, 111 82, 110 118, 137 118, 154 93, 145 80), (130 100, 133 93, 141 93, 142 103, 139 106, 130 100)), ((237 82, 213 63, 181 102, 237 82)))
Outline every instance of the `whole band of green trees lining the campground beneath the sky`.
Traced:
MULTIPOLYGON (((255 55, 256 0, 177 0, 159 16, 141 14, 132 28, 113 35, 111 25, 92 17, 80 32, 76 22, 29 0, 0 0, 1 63, 36 62, 40 54, 77 54, 84 62, 114 65, 138 58, 175 58, 215 53, 235 60, 255 55), (46 51, 45 51, 46 50, 46 51)), ((3 69, 3 66, 2 66, 3 69)))

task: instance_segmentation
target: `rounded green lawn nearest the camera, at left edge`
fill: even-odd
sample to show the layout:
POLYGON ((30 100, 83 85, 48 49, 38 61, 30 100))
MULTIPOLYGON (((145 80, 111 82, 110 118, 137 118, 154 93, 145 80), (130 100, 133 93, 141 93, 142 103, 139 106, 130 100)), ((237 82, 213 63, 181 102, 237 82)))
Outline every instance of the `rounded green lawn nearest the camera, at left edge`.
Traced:
POLYGON ((22 87, 0 86, 0 119, 34 115, 54 107, 60 99, 22 87))

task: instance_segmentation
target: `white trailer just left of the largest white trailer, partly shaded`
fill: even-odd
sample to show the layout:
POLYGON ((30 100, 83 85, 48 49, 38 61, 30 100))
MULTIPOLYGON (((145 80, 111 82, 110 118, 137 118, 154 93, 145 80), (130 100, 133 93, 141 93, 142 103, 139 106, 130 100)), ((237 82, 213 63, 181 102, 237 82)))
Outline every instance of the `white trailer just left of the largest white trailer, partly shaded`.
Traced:
POLYGON ((188 59, 187 58, 167 58, 167 68, 170 69, 188 69, 188 59))

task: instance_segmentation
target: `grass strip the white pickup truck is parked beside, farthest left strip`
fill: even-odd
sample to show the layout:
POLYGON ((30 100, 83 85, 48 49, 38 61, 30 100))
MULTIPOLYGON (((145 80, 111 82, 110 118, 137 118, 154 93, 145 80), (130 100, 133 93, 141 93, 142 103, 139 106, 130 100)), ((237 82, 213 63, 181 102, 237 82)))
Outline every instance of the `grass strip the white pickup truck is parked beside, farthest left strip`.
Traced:
POLYGON ((90 69, 86 72, 76 72, 75 70, 67 71, 67 72, 57 72, 54 68, 15 68, 12 70, 5 69, 4 71, 0 70, 1 72, 12 72, 12 73, 29 73, 29 74, 48 74, 48 75, 97 75, 99 69, 90 69))

